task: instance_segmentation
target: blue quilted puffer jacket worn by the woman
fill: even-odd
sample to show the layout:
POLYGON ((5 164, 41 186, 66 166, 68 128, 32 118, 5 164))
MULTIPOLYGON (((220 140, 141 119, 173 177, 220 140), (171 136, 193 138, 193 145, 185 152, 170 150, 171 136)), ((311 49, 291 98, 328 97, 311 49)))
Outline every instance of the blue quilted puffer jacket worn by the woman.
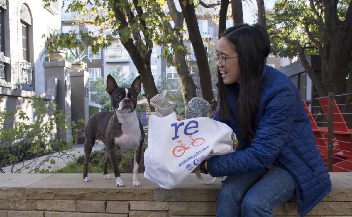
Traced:
MULTIPOLYGON (((227 101, 236 112, 238 84, 227 85, 227 101)), ((249 173, 275 162, 287 170, 295 181, 297 212, 306 215, 331 191, 331 181, 326 172, 314 140, 309 117, 304 112, 298 91, 290 78, 265 65, 262 95, 250 142, 241 136, 235 120, 217 121, 233 129, 238 139, 236 152, 212 157, 209 173, 213 177, 249 173)))

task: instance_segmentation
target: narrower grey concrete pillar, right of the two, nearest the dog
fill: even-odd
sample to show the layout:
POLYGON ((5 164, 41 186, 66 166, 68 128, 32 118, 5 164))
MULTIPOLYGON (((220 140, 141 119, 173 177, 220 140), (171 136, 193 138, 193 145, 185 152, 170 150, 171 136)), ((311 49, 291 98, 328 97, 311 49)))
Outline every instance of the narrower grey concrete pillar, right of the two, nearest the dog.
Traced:
POLYGON ((80 130, 78 133, 78 143, 84 143, 84 124, 78 123, 79 119, 88 121, 89 118, 89 98, 88 98, 88 79, 89 73, 87 71, 71 71, 71 114, 72 121, 74 121, 77 126, 76 128, 80 130))

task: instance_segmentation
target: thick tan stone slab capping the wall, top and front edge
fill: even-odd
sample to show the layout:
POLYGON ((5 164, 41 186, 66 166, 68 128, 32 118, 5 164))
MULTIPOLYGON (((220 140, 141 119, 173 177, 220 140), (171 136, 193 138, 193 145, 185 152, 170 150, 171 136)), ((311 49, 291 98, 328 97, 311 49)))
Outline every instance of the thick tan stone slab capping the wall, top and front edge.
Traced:
MULTIPOLYGON (((352 201, 352 173, 330 173, 333 190, 325 202, 352 201)), ((113 174, 112 174, 113 175, 113 174)), ((122 173, 125 187, 116 187, 115 179, 105 180, 102 174, 88 174, 90 182, 83 182, 81 173, 56 174, 0 174, 0 199, 57 199, 57 200, 144 200, 144 201, 215 201, 221 179, 214 184, 201 184, 190 174, 174 189, 162 189, 138 175, 140 187, 132 184, 132 174, 122 173)), ((204 178, 211 179, 210 175, 204 178)), ((292 202, 295 198, 291 199, 292 202)))

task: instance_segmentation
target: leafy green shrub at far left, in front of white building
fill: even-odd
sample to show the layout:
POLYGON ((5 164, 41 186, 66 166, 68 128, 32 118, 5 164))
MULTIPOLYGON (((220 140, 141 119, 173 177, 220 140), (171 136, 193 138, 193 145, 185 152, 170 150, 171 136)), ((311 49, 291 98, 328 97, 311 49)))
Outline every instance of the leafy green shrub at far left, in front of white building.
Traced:
POLYGON ((40 167, 45 162, 55 164, 52 158, 74 158, 68 150, 74 148, 73 143, 77 142, 78 129, 75 129, 75 122, 68 123, 67 114, 57 109, 57 105, 48 106, 41 98, 35 97, 27 100, 36 110, 34 117, 29 117, 18 107, 12 111, 7 111, 6 108, 0 110, 0 172, 4 172, 4 167, 9 165, 13 165, 11 173, 21 172, 24 169, 36 173, 49 172, 50 166, 45 170, 40 170, 40 167), (71 130, 72 138, 68 141, 56 139, 57 127, 71 130), (24 163, 20 168, 14 167, 19 162, 27 162, 42 155, 45 155, 44 160, 37 161, 35 165, 24 163))

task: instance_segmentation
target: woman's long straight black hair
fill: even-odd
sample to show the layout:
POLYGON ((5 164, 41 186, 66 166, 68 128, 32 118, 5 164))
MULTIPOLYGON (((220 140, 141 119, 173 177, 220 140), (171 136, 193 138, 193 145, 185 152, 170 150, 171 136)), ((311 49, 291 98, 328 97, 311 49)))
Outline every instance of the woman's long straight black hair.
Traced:
MULTIPOLYGON (((260 103, 264 60, 270 52, 270 40, 263 27, 257 24, 237 24, 228 28, 221 34, 221 37, 234 45, 239 56, 240 84, 235 117, 241 134, 254 138, 251 125, 255 120, 260 103)), ((233 119, 234 116, 226 97, 227 88, 222 81, 219 68, 218 88, 220 108, 217 115, 227 120, 233 119)))

